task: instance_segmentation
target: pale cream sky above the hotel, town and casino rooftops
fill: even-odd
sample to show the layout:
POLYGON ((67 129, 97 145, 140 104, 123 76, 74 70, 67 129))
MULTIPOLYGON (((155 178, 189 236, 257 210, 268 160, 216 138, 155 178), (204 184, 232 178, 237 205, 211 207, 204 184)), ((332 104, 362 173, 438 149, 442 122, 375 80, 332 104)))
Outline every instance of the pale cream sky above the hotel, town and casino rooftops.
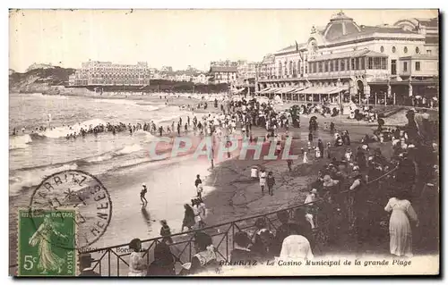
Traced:
MULTIPOLYGON (((211 61, 261 61, 305 42, 339 10, 20 10, 9 14, 9 63, 80 68, 88 60, 202 71, 211 61)), ((358 25, 432 18, 435 10, 343 10, 358 25)))

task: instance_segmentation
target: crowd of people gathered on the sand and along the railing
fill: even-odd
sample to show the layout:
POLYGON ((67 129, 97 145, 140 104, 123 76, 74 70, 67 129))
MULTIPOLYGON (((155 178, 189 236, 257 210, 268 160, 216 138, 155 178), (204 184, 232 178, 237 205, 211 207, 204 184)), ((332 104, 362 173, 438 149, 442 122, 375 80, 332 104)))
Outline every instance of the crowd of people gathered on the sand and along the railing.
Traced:
MULTIPOLYGON (((193 118, 194 130, 202 135, 220 135, 236 131, 239 125, 241 132, 250 138, 252 127, 258 126, 266 130, 267 137, 276 137, 280 128, 288 131, 289 126, 297 126, 294 122, 300 121, 296 114, 277 112, 270 103, 261 104, 256 99, 215 102, 215 107, 220 108, 221 113, 204 114, 200 120, 193 118)), ((366 135, 359 147, 353 147, 355 144, 348 130, 337 130, 333 122, 330 126, 325 123, 323 127, 333 135, 332 141, 325 144, 322 138, 317 138, 314 144, 319 126, 315 117, 310 118, 308 142, 301 149, 303 163, 313 160, 325 163, 310 185, 305 205, 297 207, 292 215, 287 211, 277 213, 280 222, 277 229, 268 229, 264 218, 259 218, 254 223, 252 237, 245 231, 235 233, 235 246, 230 252, 229 262, 244 264, 272 258, 312 259, 316 244, 323 242, 316 240, 314 229, 325 231, 324 242, 329 245, 336 245, 342 232, 352 232, 358 247, 372 239, 389 236, 392 256, 412 256, 412 231, 420 219, 413 208, 413 201, 418 201, 421 185, 434 188, 438 180, 437 144, 422 136, 430 130, 418 127, 414 113, 414 110, 408 112, 409 123, 403 128, 392 130, 383 128, 380 123, 374 136, 366 135), (392 141, 392 155, 387 158, 383 155, 382 143, 389 140, 392 141), (379 145, 376 144, 378 142, 379 145)), ((179 124, 182 124, 181 118, 179 124)), ((186 125, 190 125, 189 117, 186 125)), ((146 128, 148 126, 154 130, 151 125, 146 125, 146 128)), ((292 161, 287 162, 289 172, 294 172, 292 161)), ((267 188, 268 195, 273 196, 273 172, 257 169, 253 178, 259 180, 263 194, 267 188)), ((194 233, 196 254, 189 263, 182 264, 178 274, 220 271, 211 236, 201 231, 206 226, 207 209, 202 200, 203 185, 199 175, 194 180, 194 189, 196 197, 191 205, 184 205, 182 231, 185 228, 197 230, 194 233)), ((155 248, 151 264, 144 263, 141 241, 131 241, 129 247, 134 252, 130 257, 130 275, 176 274, 174 264, 178 260, 169 247, 171 231, 166 221, 161 223, 160 235, 164 238, 155 248)))

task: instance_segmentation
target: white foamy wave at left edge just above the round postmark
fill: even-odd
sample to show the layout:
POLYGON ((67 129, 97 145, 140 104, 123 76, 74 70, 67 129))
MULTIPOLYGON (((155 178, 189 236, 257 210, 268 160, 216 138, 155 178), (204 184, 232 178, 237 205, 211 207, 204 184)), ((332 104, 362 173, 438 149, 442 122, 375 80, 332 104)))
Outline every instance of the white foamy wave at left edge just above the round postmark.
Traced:
POLYGON ((30 188, 39 185, 47 176, 56 172, 77 169, 76 163, 59 163, 53 165, 45 165, 38 168, 27 168, 10 173, 9 190, 10 194, 19 194, 22 188, 30 188))

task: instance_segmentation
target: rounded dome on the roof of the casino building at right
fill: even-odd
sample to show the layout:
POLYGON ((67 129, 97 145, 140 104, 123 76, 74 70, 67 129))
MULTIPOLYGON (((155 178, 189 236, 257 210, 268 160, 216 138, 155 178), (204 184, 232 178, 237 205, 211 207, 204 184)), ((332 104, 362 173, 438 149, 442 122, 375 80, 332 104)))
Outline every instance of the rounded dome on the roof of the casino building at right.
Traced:
POLYGON ((350 18, 345 13, 340 12, 332 15, 330 22, 327 24, 325 31, 323 32, 323 36, 326 40, 332 41, 340 38, 341 36, 358 33, 361 29, 358 27, 358 24, 353 21, 353 18, 350 18))

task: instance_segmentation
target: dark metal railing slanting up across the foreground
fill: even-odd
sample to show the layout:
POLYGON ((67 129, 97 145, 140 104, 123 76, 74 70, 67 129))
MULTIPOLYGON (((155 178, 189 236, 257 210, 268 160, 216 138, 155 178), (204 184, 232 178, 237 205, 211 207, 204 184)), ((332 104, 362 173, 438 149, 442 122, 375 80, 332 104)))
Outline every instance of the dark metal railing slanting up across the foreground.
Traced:
MULTIPOLYGON (((390 178, 392 172, 394 172, 395 170, 396 169, 393 169, 391 172, 387 172, 379 178, 366 183, 367 190, 381 189, 384 180, 390 178)), ((349 190, 341 191, 338 194, 340 195, 340 197, 343 197, 340 200, 344 201, 344 211, 348 212, 348 217, 354 216, 353 208, 349 202, 349 197, 351 197, 351 194, 352 191, 349 190)), ((230 252, 234 247, 233 237, 237 231, 246 231, 252 239, 256 232, 254 222, 258 218, 263 218, 266 222, 267 228, 271 231, 275 231, 280 226, 280 221, 277 218, 277 214, 279 212, 287 211, 289 213, 289 217, 292 218, 297 208, 306 207, 307 205, 308 204, 294 205, 268 214, 258 214, 231 222, 223 222, 220 224, 212 225, 200 230, 185 231, 170 235, 169 237, 171 237, 174 242, 168 244, 168 246, 171 249, 171 254, 176 260, 177 272, 180 270, 181 264, 190 262, 192 257, 194 256, 194 233, 196 231, 203 231, 209 234, 213 240, 213 245, 216 248, 218 259, 229 261, 230 252)), ((326 197, 314 201, 314 206, 317 206, 320 210, 317 214, 318 226, 313 230, 313 250, 314 252, 323 254, 325 251, 324 247, 326 246, 326 243, 328 241, 327 233, 328 225, 330 224, 330 221, 332 219, 332 209, 330 202, 326 197)), ((349 223, 352 222, 353 221, 349 221, 349 223)), ((142 240, 142 248, 145 248, 143 257, 146 258, 147 264, 151 264, 151 261, 153 260, 154 247, 158 243, 163 242, 162 239, 165 238, 167 237, 157 237, 142 240)), ((126 276, 129 267, 128 258, 126 256, 130 256, 131 254, 131 252, 127 248, 128 244, 125 243, 113 247, 103 247, 95 250, 85 251, 82 253, 90 254, 92 256, 92 269, 102 276, 126 276)))

